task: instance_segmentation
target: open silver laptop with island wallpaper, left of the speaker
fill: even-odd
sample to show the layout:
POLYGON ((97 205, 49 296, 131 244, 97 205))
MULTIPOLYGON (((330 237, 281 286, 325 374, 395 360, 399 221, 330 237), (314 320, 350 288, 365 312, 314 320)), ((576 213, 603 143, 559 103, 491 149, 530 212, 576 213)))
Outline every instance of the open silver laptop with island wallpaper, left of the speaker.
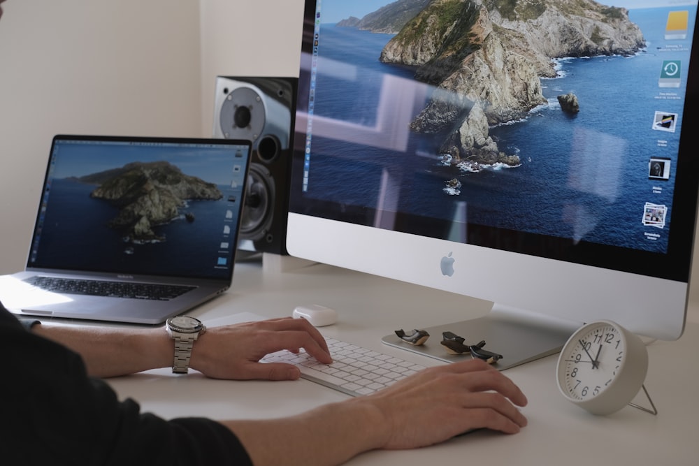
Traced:
POLYGON ((233 279, 251 143, 55 136, 27 266, 0 301, 31 316, 157 324, 233 279))

